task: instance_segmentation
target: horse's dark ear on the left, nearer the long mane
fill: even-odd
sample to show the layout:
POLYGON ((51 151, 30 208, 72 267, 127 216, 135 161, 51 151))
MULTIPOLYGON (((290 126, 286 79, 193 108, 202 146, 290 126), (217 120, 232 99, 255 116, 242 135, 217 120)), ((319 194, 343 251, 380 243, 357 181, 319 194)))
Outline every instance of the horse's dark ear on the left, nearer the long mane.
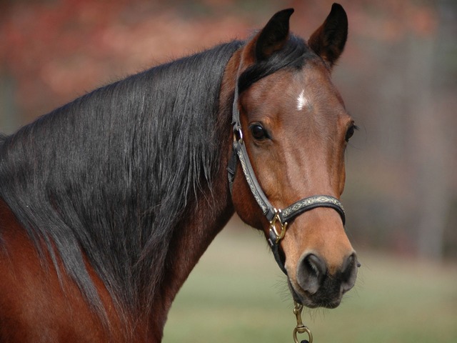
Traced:
POLYGON ((258 35, 256 61, 268 59, 273 52, 281 50, 288 39, 288 20, 293 9, 284 9, 271 17, 258 35))

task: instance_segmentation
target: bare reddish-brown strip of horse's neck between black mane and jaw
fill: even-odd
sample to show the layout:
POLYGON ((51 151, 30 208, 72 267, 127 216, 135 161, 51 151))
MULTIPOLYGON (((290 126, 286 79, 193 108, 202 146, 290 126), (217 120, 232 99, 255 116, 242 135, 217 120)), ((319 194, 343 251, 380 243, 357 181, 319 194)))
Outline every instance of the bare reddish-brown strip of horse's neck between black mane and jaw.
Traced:
MULTIPOLYGON (((160 341, 166 316, 176 294, 186 281, 191 270, 195 267, 200 257, 214 237, 223 229, 233 215, 233 204, 227 180, 226 166, 229 161, 231 145, 231 108, 233 102, 234 75, 238 69, 239 53, 233 54, 227 64, 221 84, 219 99, 219 119, 221 124, 222 141, 220 168, 211 184, 211 189, 202 192, 199 201, 191 206, 191 212, 179 222, 174 232, 171 246, 166 256, 166 269, 164 278, 159 285, 159 294, 151 308, 154 318, 150 321, 150 332, 160 341)), ((154 341, 155 342, 155 341, 154 341)))

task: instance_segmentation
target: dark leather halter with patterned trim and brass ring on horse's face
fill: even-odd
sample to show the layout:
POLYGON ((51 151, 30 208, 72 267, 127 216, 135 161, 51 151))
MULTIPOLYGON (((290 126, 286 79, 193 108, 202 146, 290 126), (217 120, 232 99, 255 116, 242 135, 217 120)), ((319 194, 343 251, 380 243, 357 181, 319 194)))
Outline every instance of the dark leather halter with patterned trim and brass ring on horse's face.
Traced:
POLYGON ((261 208, 263 215, 270 222, 268 229, 268 244, 271 247, 274 258, 278 263, 279 268, 287 275, 286 267, 284 266, 283 257, 279 251, 279 243, 286 234, 287 224, 299 214, 303 214, 316 207, 329 207, 335 209, 341 217, 343 225, 346 222, 343 205, 335 197, 330 195, 314 195, 291 204, 286 209, 276 209, 268 201, 266 195, 258 184, 256 174, 253 171, 251 161, 249 160, 248 152, 243 141, 243 132, 241 131, 240 111, 238 104, 238 79, 235 85, 235 95, 233 99, 232 124, 233 124, 233 146, 229 166, 227 167, 229 176, 230 192, 232 192, 233 181, 236 174, 236 164, 239 159, 244 177, 248 183, 251 193, 256 199, 258 206, 261 208))

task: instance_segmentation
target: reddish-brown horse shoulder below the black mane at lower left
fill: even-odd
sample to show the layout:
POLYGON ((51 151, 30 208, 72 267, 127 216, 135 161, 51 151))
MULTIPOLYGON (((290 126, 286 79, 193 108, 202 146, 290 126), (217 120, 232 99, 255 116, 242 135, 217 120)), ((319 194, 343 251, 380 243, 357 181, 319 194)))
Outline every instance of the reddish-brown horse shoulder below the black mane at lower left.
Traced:
POLYGON ((116 334, 119 319, 101 281, 95 284, 112 324, 109 333, 64 269, 59 281, 49 257, 47 262, 41 261, 1 199, 0 237, 0 342, 125 341, 116 334))

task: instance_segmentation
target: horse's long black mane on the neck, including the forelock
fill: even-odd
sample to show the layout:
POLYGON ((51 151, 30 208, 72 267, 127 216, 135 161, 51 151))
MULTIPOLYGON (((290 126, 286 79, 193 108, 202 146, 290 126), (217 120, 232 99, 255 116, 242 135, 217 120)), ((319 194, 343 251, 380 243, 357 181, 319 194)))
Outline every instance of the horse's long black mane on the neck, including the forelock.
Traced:
MULTIPOLYGON (((218 122, 219 92, 241 44, 156 66, 0 135, 0 197, 97 312, 104 309, 83 253, 119 307, 152 301, 176 224, 228 152, 220 137, 231 114, 218 122)), ((278 69, 301 68, 306 54, 291 36, 243 72, 240 91, 278 69)))

